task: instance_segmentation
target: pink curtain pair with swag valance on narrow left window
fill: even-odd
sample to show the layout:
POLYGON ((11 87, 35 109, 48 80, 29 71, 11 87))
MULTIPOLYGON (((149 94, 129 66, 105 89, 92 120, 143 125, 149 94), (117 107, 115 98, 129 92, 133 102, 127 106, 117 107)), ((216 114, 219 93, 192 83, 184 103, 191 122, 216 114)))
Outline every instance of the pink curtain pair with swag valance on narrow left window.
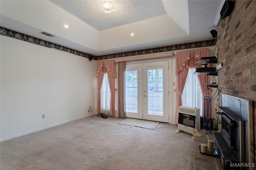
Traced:
POLYGON ((116 63, 114 60, 97 61, 97 77, 98 77, 98 98, 97 112, 100 113, 100 90, 104 74, 108 74, 108 83, 110 86, 110 115, 115 115, 116 111, 116 63))

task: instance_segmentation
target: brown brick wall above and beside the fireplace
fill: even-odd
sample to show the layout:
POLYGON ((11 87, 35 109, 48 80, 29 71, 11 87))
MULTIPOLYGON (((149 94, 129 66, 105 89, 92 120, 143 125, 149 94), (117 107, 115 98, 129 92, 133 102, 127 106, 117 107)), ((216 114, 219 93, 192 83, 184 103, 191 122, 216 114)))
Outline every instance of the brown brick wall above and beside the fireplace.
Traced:
POLYGON ((256 0, 236 0, 230 16, 218 23, 219 92, 253 100, 256 162, 256 0))

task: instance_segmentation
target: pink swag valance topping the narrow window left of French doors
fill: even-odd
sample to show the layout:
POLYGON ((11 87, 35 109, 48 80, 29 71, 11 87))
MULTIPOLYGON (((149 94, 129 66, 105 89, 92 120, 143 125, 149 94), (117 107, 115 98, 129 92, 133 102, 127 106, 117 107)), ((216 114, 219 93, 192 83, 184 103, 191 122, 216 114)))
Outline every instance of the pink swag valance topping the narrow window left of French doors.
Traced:
POLYGON ((104 61, 97 61, 97 77, 99 76, 99 73, 106 74, 109 72, 109 74, 112 77, 116 78, 116 63, 115 60, 104 60, 104 61))

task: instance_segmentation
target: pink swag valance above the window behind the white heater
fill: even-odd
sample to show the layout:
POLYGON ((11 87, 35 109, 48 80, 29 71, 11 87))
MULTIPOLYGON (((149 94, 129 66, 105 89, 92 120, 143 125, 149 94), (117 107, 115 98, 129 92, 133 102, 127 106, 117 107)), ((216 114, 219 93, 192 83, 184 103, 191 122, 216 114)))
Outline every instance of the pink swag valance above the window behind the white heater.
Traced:
POLYGON ((198 68, 200 64, 196 62, 201 59, 201 57, 209 57, 209 49, 195 49, 188 51, 177 51, 176 53, 176 75, 178 72, 183 70, 183 67, 188 68, 198 68))

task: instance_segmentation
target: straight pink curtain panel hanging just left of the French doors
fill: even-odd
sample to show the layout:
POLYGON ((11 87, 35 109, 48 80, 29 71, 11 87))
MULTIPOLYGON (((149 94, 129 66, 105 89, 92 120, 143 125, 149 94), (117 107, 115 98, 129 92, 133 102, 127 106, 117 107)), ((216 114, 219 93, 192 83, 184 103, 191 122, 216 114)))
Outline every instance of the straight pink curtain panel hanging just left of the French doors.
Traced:
POLYGON ((125 62, 118 63, 118 117, 126 118, 125 113, 125 62))

